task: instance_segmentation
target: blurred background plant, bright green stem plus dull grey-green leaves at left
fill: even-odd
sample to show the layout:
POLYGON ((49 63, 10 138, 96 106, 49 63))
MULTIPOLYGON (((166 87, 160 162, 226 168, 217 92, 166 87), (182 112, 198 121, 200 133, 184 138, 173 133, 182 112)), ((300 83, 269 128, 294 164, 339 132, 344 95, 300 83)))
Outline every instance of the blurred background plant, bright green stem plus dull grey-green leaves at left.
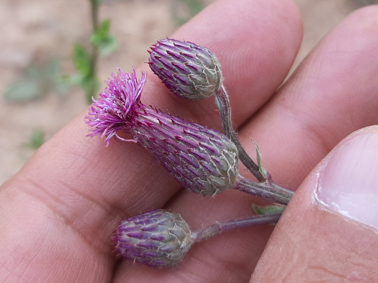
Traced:
POLYGON ((110 35, 110 20, 99 23, 98 9, 104 0, 90 0, 93 32, 88 49, 81 43, 73 47, 73 62, 77 74, 62 74, 60 63, 51 58, 46 63, 30 63, 23 70, 23 77, 11 83, 4 92, 10 102, 29 102, 41 99, 48 93, 65 94, 72 86, 80 86, 85 92, 85 100, 92 103, 99 87, 96 68, 99 55, 108 56, 118 48, 116 38, 110 35))

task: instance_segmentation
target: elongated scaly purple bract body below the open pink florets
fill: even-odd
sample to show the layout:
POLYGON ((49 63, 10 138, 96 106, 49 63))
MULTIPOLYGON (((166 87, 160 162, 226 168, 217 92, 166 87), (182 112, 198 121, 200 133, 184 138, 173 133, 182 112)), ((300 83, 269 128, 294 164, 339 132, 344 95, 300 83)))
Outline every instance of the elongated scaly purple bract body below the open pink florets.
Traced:
POLYGON ((235 185, 239 175, 238 152, 226 135, 157 109, 146 107, 144 111, 130 134, 184 188, 211 196, 235 185))

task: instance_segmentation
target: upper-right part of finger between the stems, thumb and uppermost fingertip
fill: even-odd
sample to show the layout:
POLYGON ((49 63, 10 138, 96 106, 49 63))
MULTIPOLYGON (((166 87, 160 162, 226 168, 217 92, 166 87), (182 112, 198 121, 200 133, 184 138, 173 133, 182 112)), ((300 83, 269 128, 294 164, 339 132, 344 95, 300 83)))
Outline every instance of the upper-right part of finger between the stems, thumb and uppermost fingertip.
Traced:
POLYGON ((342 138, 378 122, 376 15, 371 6, 347 17, 240 131, 277 182, 295 189, 342 138))

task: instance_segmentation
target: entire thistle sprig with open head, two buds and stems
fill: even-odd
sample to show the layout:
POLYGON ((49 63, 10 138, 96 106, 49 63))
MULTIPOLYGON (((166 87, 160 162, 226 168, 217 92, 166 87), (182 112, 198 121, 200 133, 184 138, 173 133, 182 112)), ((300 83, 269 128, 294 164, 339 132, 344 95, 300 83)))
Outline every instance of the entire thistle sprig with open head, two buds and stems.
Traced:
MULTIPOLYGON (((112 137, 144 146, 184 188, 196 194, 215 195, 234 188, 287 204, 293 192, 271 180, 258 149, 256 165, 237 140, 217 57, 194 43, 168 38, 150 49, 150 68, 176 95, 191 100, 215 95, 225 134, 144 105, 140 98, 146 73, 138 80, 135 69, 131 73, 119 69, 106 81, 105 91, 93 99, 85 117, 88 136, 101 135, 107 146, 112 137), (123 138, 121 132, 132 138, 123 138), (239 175, 239 158, 260 183, 239 175)), ((192 232, 180 215, 155 209, 122 221, 112 238, 116 251, 125 258, 168 267, 177 265, 195 241, 228 229, 274 223, 282 207, 277 211, 192 232)))

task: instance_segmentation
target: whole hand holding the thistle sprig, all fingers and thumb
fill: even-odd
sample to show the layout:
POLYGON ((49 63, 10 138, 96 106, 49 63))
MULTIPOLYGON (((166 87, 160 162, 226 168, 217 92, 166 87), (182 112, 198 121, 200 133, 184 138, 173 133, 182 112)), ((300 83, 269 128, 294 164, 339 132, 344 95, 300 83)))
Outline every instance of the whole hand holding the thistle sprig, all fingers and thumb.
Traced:
MULTIPOLYGON (((332 194, 348 180, 343 187, 353 188, 344 193, 356 209, 349 212, 359 220, 359 212, 367 210, 361 203, 376 203, 370 173, 377 167, 376 127, 353 134, 319 161, 351 132, 378 122, 377 13, 370 7, 350 15, 277 92, 302 38, 301 19, 291 2, 218 1, 172 36, 217 55, 246 151, 254 154, 251 136, 277 183, 290 188, 302 183, 264 252, 271 226, 198 243, 172 269, 116 258, 110 235, 122 218, 163 207, 198 229, 250 215, 251 203, 258 200, 233 190, 214 198, 180 190, 143 147, 115 140, 105 147, 100 137, 85 137, 84 111, 0 190, 1 281, 245 282, 263 252, 254 283, 373 282, 378 275, 375 230, 328 212, 314 200, 314 192, 320 184, 319 198, 342 209, 340 193, 332 194), (343 156, 349 157, 350 167, 338 161, 343 156), (356 185, 361 191, 354 190, 356 185)), ((146 105, 221 128, 214 103, 181 100, 152 74, 148 80, 142 96, 146 105)), ((376 206, 368 214, 376 215, 376 206)), ((368 220, 363 221, 378 227, 374 217, 368 220)))

